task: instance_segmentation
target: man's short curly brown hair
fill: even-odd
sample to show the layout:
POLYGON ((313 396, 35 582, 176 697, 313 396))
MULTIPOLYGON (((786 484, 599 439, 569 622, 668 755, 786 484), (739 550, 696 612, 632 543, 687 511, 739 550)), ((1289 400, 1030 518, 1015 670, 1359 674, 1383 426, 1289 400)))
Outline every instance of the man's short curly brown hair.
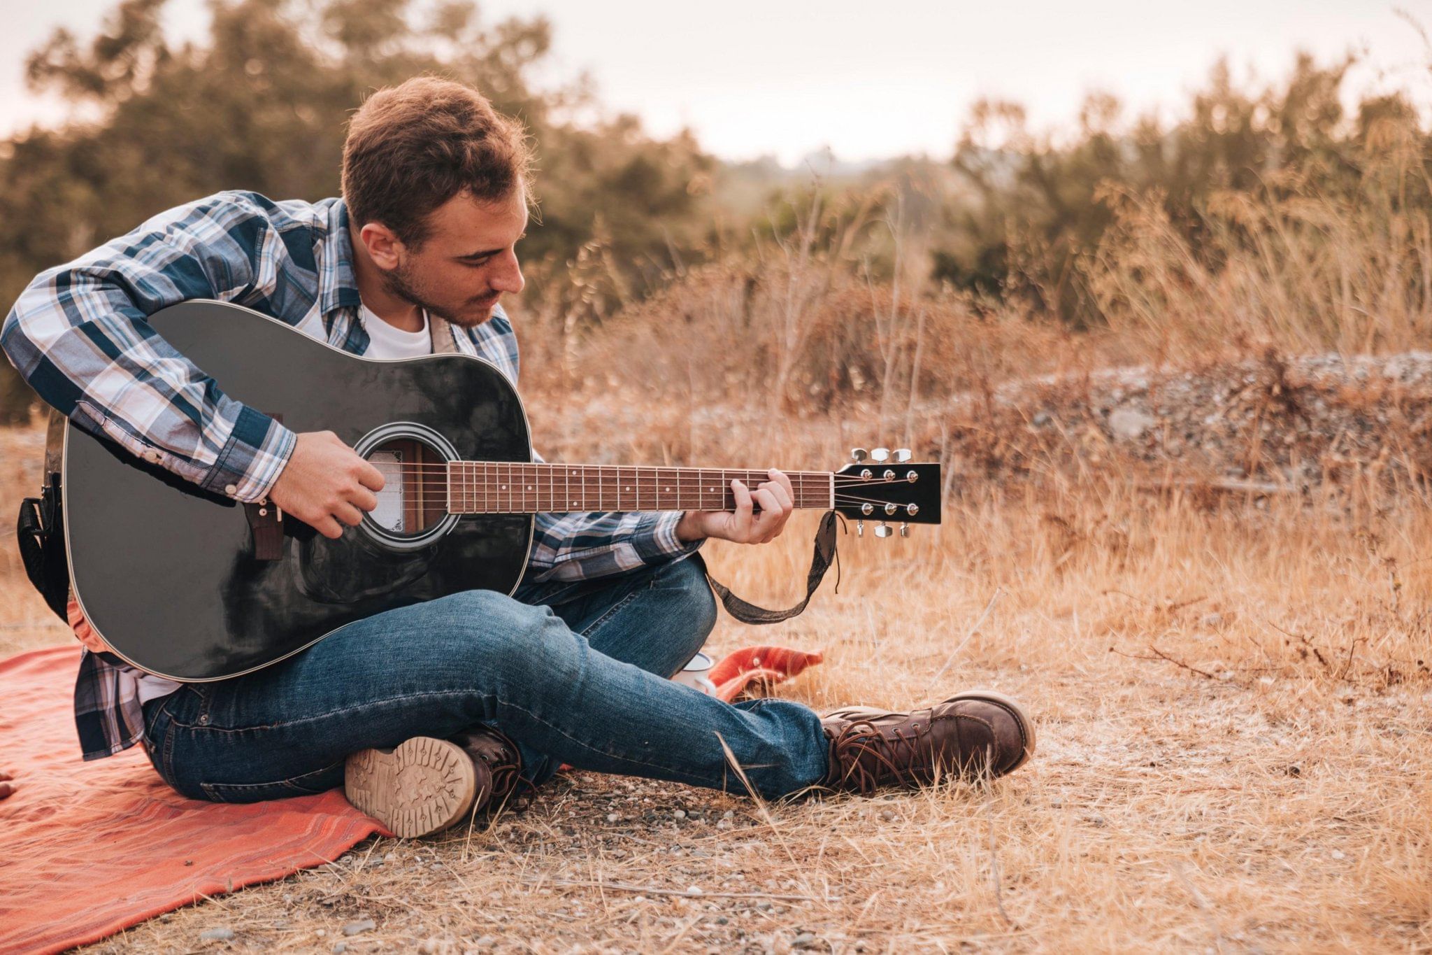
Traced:
POLYGON ((375 92, 348 122, 342 190, 354 223, 381 222, 417 248, 448 199, 505 199, 530 169, 521 123, 471 86, 417 76, 375 92))

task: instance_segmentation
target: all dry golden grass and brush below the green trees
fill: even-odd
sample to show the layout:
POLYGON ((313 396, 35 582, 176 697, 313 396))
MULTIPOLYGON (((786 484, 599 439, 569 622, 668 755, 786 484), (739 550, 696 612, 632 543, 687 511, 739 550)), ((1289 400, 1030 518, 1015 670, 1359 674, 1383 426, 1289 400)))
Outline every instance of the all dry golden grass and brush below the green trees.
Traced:
MULTIPOLYGON (((1163 272, 1130 259, 1103 286, 1126 302, 1118 334, 852 279, 799 236, 749 271, 690 275, 596 336, 524 316, 548 457, 829 468, 851 445, 908 444, 959 465, 939 528, 845 538, 838 594, 828 583, 769 629, 722 620, 710 649, 823 650, 779 687, 815 707, 1010 692, 1040 733, 1014 776, 772 806, 574 773, 490 826, 368 840, 99 948, 192 951, 228 926, 235 939, 211 946, 1432 951, 1432 513, 1415 493, 1428 397, 1353 387, 1337 399, 1368 408, 1363 444, 1309 451, 1336 487, 1247 500, 1137 490, 1157 468, 1110 445, 1087 384, 1108 364, 1226 358, 1243 328, 1286 354, 1423 341, 1425 308, 1375 283, 1380 262, 1426 243, 1326 212, 1346 226, 1335 248, 1289 231, 1219 281, 1180 272, 1179 249, 1163 272), (1277 272, 1287 256, 1300 265, 1277 272), (1348 263, 1352 292, 1313 308, 1348 263), (1035 374, 1073 384, 998 405, 1001 385, 1035 374), (1021 431, 1050 401, 1084 409, 1078 432, 1021 431), (1369 477, 1389 448, 1408 461, 1390 485, 1369 477), (1001 481, 1012 460, 1020 481, 1001 481), (342 935, 367 918, 374 929, 342 935)), ((1148 236, 1157 258, 1167 235, 1148 236)), ((906 265, 895 273, 918 272, 906 265)), ((1290 402, 1259 408, 1259 442, 1292 428, 1290 402)), ((0 432, 0 515, 34 484, 37 435, 0 432)), ((712 544, 713 570, 789 603, 813 523, 763 548, 712 544)), ((0 544, 0 651, 66 640, 0 544)))

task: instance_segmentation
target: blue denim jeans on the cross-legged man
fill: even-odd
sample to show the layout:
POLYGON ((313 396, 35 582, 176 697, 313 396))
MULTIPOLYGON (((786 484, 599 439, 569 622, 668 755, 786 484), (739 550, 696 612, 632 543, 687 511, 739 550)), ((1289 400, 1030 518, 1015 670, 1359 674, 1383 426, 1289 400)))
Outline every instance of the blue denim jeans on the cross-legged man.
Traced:
POLYGON ((789 700, 723 703, 670 682, 702 647, 716 601, 679 560, 599 580, 470 590, 348 624, 248 676, 189 683, 145 704, 145 746, 178 792, 256 802, 332 789, 344 757, 485 724, 523 776, 561 763, 768 799, 826 770, 819 717, 789 700))

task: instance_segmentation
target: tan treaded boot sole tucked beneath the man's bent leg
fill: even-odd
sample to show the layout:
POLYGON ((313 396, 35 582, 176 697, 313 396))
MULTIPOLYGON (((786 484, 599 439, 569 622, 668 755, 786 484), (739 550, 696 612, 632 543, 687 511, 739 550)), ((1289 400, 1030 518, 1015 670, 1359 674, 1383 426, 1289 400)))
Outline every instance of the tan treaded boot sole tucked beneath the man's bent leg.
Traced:
POLYGON ((473 759, 455 743, 414 736, 391 750, 364 749, 344 763, 344 793, 401 839, 442 832, 477 798, 473 759))

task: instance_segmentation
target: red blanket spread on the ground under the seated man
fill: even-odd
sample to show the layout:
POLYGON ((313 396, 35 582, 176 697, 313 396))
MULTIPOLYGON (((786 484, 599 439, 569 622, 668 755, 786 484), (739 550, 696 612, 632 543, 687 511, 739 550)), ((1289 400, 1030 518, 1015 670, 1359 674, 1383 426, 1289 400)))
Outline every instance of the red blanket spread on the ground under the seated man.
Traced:
POLYGON ((231 806, 183 799, 135 746, 80 760, 79 647, 0 661, 0 952, 59 952, 332 861, 382 828, 341 790, 231 806))

